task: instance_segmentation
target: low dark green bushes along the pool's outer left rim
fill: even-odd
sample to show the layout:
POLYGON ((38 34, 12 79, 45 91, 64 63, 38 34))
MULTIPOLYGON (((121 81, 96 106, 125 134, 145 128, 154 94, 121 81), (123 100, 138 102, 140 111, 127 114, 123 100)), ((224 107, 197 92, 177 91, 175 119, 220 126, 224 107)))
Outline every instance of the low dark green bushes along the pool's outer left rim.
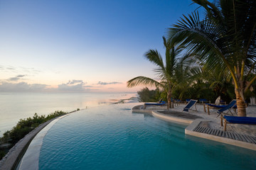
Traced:
MULTIPOLYGON (((79 111, 79 110, 78 110, 79 111)), ((49 115, 41 115, 39 116, 37 113, 33 115, 32 118, 20 119, 12 130, 8 130, 4 133, 4 136, 0 138, 0 144, 10 144, 9 147, 0 148, 0 159, 2 159, 5 154, 9 151, 11 147, 13 147, 18 140, 21 140, 25 137, 29 132, 34 130, 41 123, 45 123, 46 121, 56 118, 60 115, 65 115, 67 113, 63 111, 55 111, 54 113, 50 113, 49 115)))

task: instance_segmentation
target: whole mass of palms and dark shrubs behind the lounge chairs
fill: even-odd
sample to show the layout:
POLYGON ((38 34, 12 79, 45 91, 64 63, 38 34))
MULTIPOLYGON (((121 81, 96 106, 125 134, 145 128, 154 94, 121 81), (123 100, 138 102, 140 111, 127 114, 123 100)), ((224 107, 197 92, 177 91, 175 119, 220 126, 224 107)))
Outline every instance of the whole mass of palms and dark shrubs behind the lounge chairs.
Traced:
POLYGON ((256 1, 192 1, 204 9, 203 19, 195 11, 168 28, 165 61, 156 50, 146 52, 158 79, 135 77, 127 86, 158 87, 167 108, 171 98, 236 98, 238 116, 246 116, 245 101, 255 96, 256 1))

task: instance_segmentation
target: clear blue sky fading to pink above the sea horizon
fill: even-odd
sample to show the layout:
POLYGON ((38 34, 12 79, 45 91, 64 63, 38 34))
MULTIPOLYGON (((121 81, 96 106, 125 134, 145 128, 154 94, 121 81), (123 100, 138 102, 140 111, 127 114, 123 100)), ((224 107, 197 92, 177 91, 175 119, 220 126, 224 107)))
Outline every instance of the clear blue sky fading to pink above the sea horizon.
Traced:
POLYGON ((136 93, 190 0, 0 0, 0 92, 136 93))

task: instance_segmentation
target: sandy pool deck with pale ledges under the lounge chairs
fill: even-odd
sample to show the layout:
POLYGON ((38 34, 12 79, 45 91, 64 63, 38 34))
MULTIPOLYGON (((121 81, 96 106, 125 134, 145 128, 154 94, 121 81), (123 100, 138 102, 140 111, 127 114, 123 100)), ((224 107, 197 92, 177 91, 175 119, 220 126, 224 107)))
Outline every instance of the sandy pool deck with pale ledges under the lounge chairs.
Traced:
MULTIPOLYGON (((256 126, 234 124, 228 125, 227 131, 223 131, 223 127, 220 126, 220 118, 217 118, 217 110, 211 111, 208 115, 204 112, 203 105, 197 105, 198 112, 184 113, 181 112, 183 107, 184 105, 181 104, 167 111, 166 106, 147 106, 144 108, 144 105, 139 105, 132 108, 132 111, 134 113, 149 113, 162 120, 186 124, 188 125, 185 129, 186 135, 256 151, 256 126)), ((255 116, 255 111, 255 106, 247 107, 247 115, 255 116)))

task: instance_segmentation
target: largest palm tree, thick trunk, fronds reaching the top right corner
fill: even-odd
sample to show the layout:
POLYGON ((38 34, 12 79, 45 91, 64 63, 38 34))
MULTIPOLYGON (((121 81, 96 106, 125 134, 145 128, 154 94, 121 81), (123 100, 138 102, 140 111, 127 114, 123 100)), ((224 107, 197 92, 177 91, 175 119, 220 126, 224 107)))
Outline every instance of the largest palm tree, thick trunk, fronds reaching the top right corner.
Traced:
POLYGON ((235 84, 238 116, 246 116, 245 91, 256 79, 256 1, 193 0, 205 9, 183 16, 169 28, 168 36, 196 52, 210 71, 228 69, 235 84))

